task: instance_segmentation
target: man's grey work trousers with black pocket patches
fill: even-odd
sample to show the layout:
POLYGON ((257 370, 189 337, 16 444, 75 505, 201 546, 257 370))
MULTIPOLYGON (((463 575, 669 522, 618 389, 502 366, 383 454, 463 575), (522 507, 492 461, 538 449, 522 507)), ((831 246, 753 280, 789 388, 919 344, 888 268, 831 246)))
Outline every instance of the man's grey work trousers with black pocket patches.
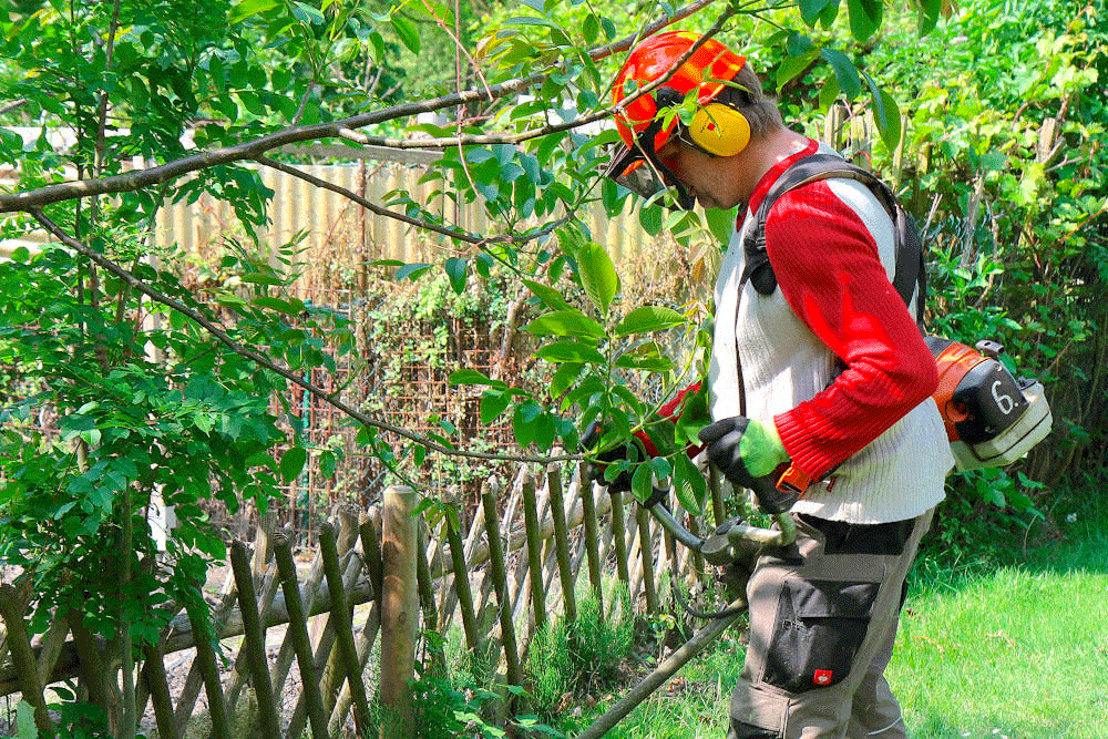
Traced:
POLYGON ((885 682, 904 578, 934 510, 889 524, 794 515, 747 583, 750 643, 728 739, 904 739, 885 682))

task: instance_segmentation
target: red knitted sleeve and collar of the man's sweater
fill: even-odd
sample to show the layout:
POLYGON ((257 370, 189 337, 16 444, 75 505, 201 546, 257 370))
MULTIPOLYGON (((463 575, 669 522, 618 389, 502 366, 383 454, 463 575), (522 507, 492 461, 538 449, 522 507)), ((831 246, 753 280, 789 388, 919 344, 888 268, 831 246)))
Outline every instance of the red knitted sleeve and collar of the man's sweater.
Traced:
MULTIPOLYGON (((767 173, 750 211, 809 153, 767 173)), ((931 396, 938 374, 870 232, 827 181, 777 201, 766 220, 766 247, 793 312, 847 365, 825 390, 773 419, 793 463, 819 479, 931 396)))

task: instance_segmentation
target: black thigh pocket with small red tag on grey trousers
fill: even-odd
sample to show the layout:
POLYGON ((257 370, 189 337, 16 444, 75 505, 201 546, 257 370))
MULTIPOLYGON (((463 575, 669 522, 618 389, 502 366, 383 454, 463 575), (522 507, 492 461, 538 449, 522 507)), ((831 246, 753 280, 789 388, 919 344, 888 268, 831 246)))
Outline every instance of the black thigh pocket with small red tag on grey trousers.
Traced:
POLYGON ((880 583, 784 583, 763 681, 792 694, 847 678, 873 614, 880 583))

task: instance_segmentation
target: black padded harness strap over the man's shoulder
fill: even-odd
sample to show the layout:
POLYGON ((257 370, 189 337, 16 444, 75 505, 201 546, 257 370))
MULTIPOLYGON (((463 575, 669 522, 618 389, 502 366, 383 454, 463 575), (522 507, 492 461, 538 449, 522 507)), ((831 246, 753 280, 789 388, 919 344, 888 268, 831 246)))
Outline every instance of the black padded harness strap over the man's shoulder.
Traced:
POLYGON ((919 285, 916 301, 916 322, 923 325, 924 298, 926 296, 926 270, 923 266, 923 243, 912 216, 901 207, 896 196, 884 182, 871 172, 841 160, 832 154, 812 154, 797 162, 778 177, 766 194, 766 198, 755 213, 755 223, 747 232, 742 242, 746 253, 746 267, 739 281, 741 291, 749 280, 759 295, 772 295, 777 289, 777 276, 769 261, 766 250, 766 218, 778 198, 797 187, 820 179, 855 179, 865 185, 881 201, 882 207, 893 220, 896 236, 896 270, 893 275, 893 288, 904 300, 912 304, 912 294, 919 285))

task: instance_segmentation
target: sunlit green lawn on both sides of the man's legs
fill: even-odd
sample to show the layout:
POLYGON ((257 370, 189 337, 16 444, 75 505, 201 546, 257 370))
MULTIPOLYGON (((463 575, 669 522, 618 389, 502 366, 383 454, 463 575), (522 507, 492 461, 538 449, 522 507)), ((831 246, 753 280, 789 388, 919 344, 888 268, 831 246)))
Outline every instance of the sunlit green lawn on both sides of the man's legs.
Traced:
MULTIPOLYGON (((889 670, 913 739, 1108 738, 1108 532, 1010 566, 924 560, 914 583, 889 670)), ((607 737, 722 739, 740 666, 728 638, 607 737)))

